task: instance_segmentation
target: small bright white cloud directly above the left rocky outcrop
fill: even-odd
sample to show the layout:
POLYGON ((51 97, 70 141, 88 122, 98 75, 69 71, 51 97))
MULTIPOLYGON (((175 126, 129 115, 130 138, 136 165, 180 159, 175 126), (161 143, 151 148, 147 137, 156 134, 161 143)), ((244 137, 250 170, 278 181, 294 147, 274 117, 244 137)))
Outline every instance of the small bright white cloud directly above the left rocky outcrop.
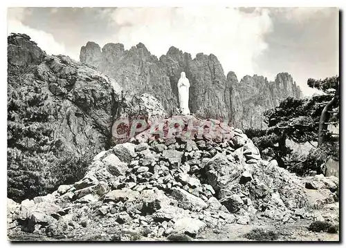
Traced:
MULTIPOLYGON (((53 35, 24 26, 21 20, 24 18, 24 8, 8 8, 8 23, 7 33, 10 35, 11 32, 19 32, 29 35, 31 40, 37 43, 37 46, 42 50, 46 51, 49 55, 68 55, 66 48, 63 44, 55 41, 53 35)), ((79 60, 79 58, 72 57, 73 59, 79 60)))

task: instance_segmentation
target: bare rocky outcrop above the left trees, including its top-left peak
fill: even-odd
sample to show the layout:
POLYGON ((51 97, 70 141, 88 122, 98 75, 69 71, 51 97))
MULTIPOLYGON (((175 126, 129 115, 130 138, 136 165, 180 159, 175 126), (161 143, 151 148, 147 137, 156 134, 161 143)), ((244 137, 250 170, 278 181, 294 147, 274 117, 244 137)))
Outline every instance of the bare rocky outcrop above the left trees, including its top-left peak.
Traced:
POLYGON ((109 147, 117 106, 113 79, 69 57, 46 55, 26 35, 12 35, 8 41, 9 68, 28 68, 23 75, 25 82, 17 84, 9 78, 8 84, 15 91, 28 84, 33 89, 35 86, 44 89, 47 94, 44 104, 55 116, 47 125, 55 130, 55 139, 62 142, 62 154, 69 151, 94 155, 109 147), (19 51, 19 57, 12 53, 14 49, 19 51))

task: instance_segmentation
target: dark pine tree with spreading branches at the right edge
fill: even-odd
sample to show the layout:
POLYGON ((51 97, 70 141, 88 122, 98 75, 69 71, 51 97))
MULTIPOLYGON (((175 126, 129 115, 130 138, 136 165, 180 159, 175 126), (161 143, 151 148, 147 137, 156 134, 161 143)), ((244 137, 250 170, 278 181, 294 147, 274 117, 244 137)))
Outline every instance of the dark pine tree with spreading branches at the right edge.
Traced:
POLYGON ((300 173, 310 169, 323 172, 322 165, 328 158, 338 159, 338 134, 332 133, 328 126, 337 126, 340 120, 339 77, 309 79, 308 85, 323 94, 304 99, 288 97, 264 113, 268 129, 245 131, 264 158, 274 158, 280 166, 289 166, 300 173), (287 139, 298 144, 317 142, 318 147, 302 158, 292 154, 286 146, 287 139))

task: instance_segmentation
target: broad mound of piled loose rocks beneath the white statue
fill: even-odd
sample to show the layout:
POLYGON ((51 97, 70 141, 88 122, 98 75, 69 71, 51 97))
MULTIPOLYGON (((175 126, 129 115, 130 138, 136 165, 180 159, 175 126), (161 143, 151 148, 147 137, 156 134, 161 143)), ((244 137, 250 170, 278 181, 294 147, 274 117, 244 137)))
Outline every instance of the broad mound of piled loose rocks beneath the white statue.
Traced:
MULTIPOLYGON (((208 125, 203 128, 210 131, 208 125)), ((261 160, 239 129, 190 139, 182 138, 183 132, 151 139, 146 131, 147 142, 140 142, 145 136, 141 133, 96 155, 75 184, 21 204, 9 201, 9 228, 55 237, 98 226, 121 227, 149 238, 173 232, 194 237, 205 228, 247 225, 254 218, 313 218, 306 210, 311 201, 305 183, 327 190, 322 204, 337 200, 336 178, 325 179, 324 186, 316 180, 304 182, 275 160, 261 160)))

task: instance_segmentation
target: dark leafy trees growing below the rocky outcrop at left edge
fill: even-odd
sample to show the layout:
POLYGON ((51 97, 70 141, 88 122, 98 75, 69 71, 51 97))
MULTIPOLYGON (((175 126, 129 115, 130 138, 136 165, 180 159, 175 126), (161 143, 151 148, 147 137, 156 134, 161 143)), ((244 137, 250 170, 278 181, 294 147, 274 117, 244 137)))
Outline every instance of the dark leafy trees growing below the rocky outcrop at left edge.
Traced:
POLYGON ((35 66, 8 68, 8 198, 17 202, 82 178, 89 159, 59 155, 57 108, 33 72, 35 66))

